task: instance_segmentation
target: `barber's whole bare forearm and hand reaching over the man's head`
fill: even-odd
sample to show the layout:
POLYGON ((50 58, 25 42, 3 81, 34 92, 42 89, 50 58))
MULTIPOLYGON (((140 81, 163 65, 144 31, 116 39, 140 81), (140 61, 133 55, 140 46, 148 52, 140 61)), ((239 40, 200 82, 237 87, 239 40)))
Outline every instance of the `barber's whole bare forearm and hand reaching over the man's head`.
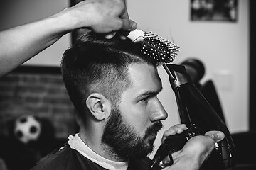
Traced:
POLYGON ((87 0, 41 21, 0 32, 0 77, 37 55, 71 30, 96 33, 134 30, 124 0, 87 0))

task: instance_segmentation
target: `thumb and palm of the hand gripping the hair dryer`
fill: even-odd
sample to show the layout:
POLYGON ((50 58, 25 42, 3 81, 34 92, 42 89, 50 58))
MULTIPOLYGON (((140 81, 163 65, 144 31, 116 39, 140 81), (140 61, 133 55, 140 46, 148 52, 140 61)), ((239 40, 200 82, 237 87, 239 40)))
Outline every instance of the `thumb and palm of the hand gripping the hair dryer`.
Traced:
POLYGON ((183 149, 172 154, 174 164, 165 169, 199 169, 213 151, 215 142, 224 137, 224 133, 220 131, 209 131, 205 135, 192 137, 183 149))

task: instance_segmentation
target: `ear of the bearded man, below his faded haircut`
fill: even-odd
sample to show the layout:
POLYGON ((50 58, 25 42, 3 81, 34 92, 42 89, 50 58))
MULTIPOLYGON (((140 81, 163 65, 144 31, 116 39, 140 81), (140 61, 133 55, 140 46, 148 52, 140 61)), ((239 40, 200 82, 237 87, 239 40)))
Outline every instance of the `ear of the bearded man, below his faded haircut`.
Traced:
POLYGON ((102 94, 90 94, 86 99, 86 106, 97 120, 108 118, 111 112, 110 100, 102 94))

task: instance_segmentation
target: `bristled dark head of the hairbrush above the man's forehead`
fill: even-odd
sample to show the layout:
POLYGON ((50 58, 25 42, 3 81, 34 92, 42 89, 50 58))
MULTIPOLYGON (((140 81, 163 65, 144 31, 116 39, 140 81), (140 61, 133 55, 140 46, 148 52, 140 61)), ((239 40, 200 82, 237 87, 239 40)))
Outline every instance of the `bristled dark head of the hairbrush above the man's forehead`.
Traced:
POLYGON ((144 34, 144 47, 142 52, 149 55, 159 64, 171 64, 178 55, 179 47, 154 33, 144 34))

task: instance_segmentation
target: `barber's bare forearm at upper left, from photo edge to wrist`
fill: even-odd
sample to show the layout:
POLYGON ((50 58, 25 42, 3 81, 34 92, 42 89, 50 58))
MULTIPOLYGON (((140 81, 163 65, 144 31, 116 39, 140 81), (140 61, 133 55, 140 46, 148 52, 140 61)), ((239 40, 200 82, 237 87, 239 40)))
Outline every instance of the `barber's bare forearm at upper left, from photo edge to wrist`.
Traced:
POLYGON ((62 15, 0 32, 0 77, 37 55, 72 29, 62 15))

